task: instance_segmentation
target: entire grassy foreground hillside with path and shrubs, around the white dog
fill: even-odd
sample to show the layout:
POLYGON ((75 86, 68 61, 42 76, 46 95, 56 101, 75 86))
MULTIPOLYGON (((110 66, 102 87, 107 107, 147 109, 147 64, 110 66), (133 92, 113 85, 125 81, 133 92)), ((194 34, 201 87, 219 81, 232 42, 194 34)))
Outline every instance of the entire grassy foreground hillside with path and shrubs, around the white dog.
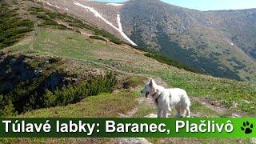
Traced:
MULTIPOLYGON (((187 90, 192 99, 193 117, 224 117, 232 116, 234 113, 256 115, 255 86, 251 83, 196 74, 158 62, 147 57, 144 51, 136 50, 124 43, 116 44, 118 39, 106 31, 99 30, 88 22, 60 14, 42 3, 8 2, 10 9, 22 11, 18 13, 19 17, 29 18, 34 23, 34 30, 18 38, 18 42, 12 46, 1 49, 1 84, 12 79, 18 83, 13 83, 16 93, 12 97, 10 97, 12 93, 8 90, 5 93, 1 91, 0 98, 6 98, 6 103, 0 103, 1 116, 144 117, 155 112, 154 106, 139 94, 145 80, 150 77, 156 78, 160 83, 166 82, 168 87, 187 90), (23 59, 19 60, 21 57, 23 59), (15 69, 17 66, 21 68, 15 69), (32 75, 35 74, 35 77, 27 77, 27 71, 32 75), (113 72, 111 77, 107 76, 109 71, 113 72), (112 86, 115 82, 113 78, 116 78, 114 86, 112 86), (108 86, 101 86, 102 82, 106 82, 108 86), (32 93, 39 88, 42 89, 42 93, 32 93), (19 97, 16 98, 15 94, 19 97), (207 108, 197 99, 203 99, 227 111, 223 114, 219 113, 207 108), (24 110, 17 110, 17 107, 21 106, 18 100, 26 102, 24 110), (38 101, 45 105, 39 105, 41 103, 38 101), (15 111, 18 111, 18 114, 15 111)), ((21 138, 1 141, 117 142, 115 139, 85 138, 21 138)), ((160 139, 150 139, 150 141, 159 142, 160 139)), ((187 142, 187 139, 170 138, 164 141, 187 142)), ((194 142, 207 141, 194 139, 194 142)), ((229 143, 239 141, 249 142, 248 139, 223 140, 229 143)), ((210 142, 216 141, 212 139, 210 142)))

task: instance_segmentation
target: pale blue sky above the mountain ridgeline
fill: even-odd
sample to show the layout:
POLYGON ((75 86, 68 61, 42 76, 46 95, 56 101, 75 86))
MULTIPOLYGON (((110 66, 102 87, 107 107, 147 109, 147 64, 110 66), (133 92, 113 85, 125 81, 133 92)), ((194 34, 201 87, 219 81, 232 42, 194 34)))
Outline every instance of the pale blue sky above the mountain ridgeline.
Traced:
MULTIPOLYGON (((126 2, 126 0, 97 0, 100 2, 126 2)), ((176 6, 195 10, 237 10, 256 8, 255 0, 162 0, 176 6)))

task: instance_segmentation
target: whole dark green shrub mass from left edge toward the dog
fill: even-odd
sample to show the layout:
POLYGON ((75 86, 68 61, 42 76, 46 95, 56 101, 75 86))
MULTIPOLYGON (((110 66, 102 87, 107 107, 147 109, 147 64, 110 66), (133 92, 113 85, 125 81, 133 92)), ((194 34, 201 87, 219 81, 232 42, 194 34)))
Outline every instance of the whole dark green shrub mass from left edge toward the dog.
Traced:
POLYGON ((0 84, 5 85, 5 79, 12 81, 11 86, 0 91, 0 117, 49 106, 66 106, 88 96, 111 92, 116 86, 117 80, 112 73, 73 82, 70 78, 76 78, 75 75, 66 74, 62 70, 55 71, 54 66, 60 65, 58 62, 58 59, 50 58, 47 64, 44 61, 24 63, 23 56, 8 57, 0 62, 3 70, 10 69, 4 78, 0 78, 0 84), (16 68, 20 65, 24 66, 22 72, 16 68), (38 67, 45 67, 46 70, 38 74, 38 67), (12 78, 13 73, 17 73, 17 77, 12 78))

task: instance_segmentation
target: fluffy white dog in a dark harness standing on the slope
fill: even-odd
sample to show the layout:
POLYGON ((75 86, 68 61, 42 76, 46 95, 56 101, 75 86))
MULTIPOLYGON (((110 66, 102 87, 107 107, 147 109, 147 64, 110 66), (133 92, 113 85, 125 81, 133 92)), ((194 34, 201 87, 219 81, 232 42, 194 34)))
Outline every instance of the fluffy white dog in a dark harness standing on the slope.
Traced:
POLYGON ((186 91, 178 88, 165 89, 163 86, 158 86, 152 78, 141 91, 152 97, 154 104, 158 107, 158 118, 167 118, 167 114, 171 109, 177 110, 177 117, 181 117, 186 112, 186 117, 190 118, 190 98, 186 91))

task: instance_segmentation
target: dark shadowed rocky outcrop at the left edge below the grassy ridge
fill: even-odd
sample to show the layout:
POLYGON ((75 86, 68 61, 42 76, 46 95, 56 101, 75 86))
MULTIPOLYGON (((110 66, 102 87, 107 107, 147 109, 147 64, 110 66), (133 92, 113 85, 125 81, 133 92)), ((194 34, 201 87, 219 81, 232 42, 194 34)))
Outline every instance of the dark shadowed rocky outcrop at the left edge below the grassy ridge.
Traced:
POLYGON ((37 109, 46 90, 54 92, 74 84, 74 75, 62 70, 62 62, 54 58, 0 54, 0 110, 10 102, 18 113, 37 109))

